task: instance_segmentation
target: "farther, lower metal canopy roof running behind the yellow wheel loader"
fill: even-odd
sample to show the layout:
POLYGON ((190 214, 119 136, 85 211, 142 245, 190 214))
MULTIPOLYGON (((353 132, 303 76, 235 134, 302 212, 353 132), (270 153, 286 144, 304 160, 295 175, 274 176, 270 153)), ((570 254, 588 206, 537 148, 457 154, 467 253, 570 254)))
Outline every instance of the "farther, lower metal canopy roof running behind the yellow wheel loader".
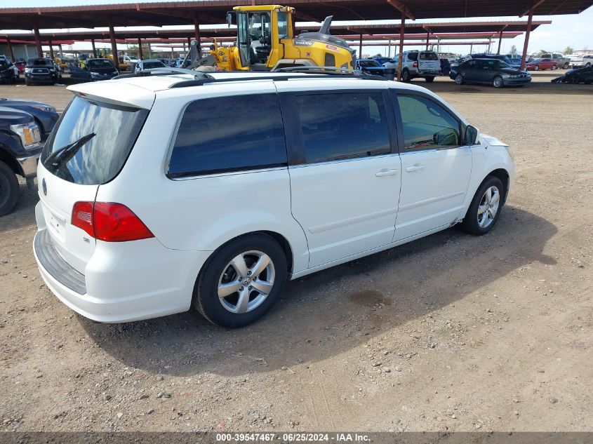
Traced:
MULTIPOLYGON (((531 30, 537 28, 540 25, 549 25, 552 23, 549 20, 533 20, 531 30)), ((298 25, 297 30, 303 31, 305 29, 313 30, 313 27, 298 25)), ((424 34, 430 32, 432 39, 446 38, 444 34, 453 33, 470 33, 475 34, 477 32, 486 32, 494 36, 498 35, 498 32, 502 31, 503 36, 505 32, 524 32, 527 29, 527 20, 514 21, 514 22, 458 22, 458 23, 422 23, 414 22, 410 25, 406 24, 406 34, 424 34), (496 35, 495 35, 496 34, 496 35)), ((217 27, 214 29, 200 29, 201 36, 203 37, 232 37, 236 36, 236 29, 228 27, 217 27)), ((331 27, 331 33, 334 35, 347 35, 358 36, 359 34, 397 34, 399 33, 399 25, 333 25, 331 27)), ((508 35, 508 34, 507 34, 508 35)), ((19 39, 22 41, 35 41, 35 36, 32 33, 22 34, 0 34, 0 38, 10 37, 11 39, 19 39)), ((115 31, 116 39, 174 39, 194 36, 192 29, 142 29, 142 30, 122 30, 117 29, 115 31)), ((479 36, 482 38, 484 36, 479 36)), ((82 31, 82 32, 53 32, 53 33, 41 33, 41 41, 53 41, 53 40, 89 40, 89 39, 109 39, 109 31, 82 31)), ((378 37, 381 38, 381 37, 378 37)), ((474 38, 474 37, 471 37, 474 38)))

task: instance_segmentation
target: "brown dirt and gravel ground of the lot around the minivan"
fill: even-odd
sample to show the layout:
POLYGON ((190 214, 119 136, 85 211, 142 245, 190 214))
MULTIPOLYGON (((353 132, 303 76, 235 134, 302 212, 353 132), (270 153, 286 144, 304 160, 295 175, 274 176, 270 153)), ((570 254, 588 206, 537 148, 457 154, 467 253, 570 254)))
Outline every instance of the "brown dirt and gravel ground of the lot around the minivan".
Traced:
MULTIPOLYGON (((593 430, 593 87, 429 86, 512 145, 497 227, 448 229, 287 285, 242 330, 93 323, 0 219, 0 422, 19 431, 593 430)), ((425 83, 415 81, 422 86, 425 83)), ((0 86, 63 109, 60 86, 0 86)))

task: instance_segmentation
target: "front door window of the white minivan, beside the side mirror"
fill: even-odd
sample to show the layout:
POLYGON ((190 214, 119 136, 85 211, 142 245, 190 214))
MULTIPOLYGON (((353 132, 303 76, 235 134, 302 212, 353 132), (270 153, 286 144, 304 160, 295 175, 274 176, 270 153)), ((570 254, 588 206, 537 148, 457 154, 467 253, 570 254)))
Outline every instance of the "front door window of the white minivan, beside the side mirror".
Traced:
POLYGON ((404 150, 441 149, 461 145, 459 122, 444 107, 413 95, 398 95, 404 125, 404 150))

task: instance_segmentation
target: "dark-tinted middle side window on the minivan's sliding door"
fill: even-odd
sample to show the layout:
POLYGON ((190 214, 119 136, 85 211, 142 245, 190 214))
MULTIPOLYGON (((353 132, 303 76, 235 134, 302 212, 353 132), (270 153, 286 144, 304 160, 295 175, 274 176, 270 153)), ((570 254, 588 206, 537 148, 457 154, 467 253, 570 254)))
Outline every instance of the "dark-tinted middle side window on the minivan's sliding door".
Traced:
POLYGON ((391 152, 382 93, 297 95, 295 100, 306 163, 391 152))

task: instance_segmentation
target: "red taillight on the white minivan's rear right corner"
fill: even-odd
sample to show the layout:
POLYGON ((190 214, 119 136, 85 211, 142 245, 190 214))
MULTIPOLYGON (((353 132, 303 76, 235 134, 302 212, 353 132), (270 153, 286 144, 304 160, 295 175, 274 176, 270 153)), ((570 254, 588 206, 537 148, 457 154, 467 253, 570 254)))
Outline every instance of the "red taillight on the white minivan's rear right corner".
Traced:
POLYGON ((105 242, 138 241, 154 237, 130 208, 112 202, 76 202, 72 225, 105 242))

